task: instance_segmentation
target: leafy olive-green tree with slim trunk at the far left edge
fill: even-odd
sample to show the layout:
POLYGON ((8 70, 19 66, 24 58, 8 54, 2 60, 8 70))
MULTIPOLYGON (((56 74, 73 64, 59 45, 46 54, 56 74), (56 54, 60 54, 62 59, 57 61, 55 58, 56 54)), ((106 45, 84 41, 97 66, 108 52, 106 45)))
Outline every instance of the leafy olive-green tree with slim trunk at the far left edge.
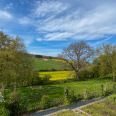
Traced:
POLYGON ((7 76, 11 64, 12 51, 9 47, 11 45, 10 36, 5 35, 0 31, 0 82, 2 83, 4 99, 6 99, 5 84, 10 78, 7 76))

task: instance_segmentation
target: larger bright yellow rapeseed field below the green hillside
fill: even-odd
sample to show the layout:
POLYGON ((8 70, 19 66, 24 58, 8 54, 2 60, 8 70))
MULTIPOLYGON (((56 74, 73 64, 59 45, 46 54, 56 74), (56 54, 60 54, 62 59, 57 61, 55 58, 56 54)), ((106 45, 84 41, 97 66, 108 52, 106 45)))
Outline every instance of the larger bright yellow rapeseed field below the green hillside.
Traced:
POLYGON ((60 80, 60 79, 67 79, 72 78, 74 75, 74 71, 54 71, 54 72, 40 72, 40 77, 49 74, 52 76, 50 80, 60 80))

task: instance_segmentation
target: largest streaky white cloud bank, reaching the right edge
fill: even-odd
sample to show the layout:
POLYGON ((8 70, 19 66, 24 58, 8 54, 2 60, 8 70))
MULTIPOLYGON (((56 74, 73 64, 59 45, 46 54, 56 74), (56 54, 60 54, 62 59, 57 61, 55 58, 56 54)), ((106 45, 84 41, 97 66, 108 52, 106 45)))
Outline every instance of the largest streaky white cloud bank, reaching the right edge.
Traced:
MULTIPOLYGON (((48 32, 60 31, 61 33, 65 31, 67 33, 74 33, 77 39, 88 40, 99 39, 108 34, 116 34, 115 5, 104 4, 84 14, 81 14, 81 11, 77 9, 72 14, 67 13, 67 15, 59 18, 50 16, 48 17, 48 19, 52 17, 50 20, 43 19, 42 23, 37 25, 37 30, 48 32)), ((73 34, 72 36, 67 35, 68 37, 75 38, 73 34)))

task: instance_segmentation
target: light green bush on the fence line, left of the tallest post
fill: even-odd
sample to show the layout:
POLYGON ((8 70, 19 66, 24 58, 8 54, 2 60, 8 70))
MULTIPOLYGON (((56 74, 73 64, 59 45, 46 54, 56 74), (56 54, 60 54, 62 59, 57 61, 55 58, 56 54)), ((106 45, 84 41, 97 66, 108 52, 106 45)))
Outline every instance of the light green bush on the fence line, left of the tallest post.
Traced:
POLYGON ((42 109, 46 109, 50 107, 50 97, 48 95, 43 95, 41 102, 42 102, 42 109))

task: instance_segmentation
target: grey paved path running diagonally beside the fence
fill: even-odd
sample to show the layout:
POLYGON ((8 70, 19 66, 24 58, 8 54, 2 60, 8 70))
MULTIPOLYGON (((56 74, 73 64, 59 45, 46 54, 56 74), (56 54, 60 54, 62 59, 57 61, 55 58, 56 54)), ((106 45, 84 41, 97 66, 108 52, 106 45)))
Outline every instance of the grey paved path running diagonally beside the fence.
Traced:
POLYGON ((96 101, 104 100, 105 98, 98 98, 98 99, 92 99, 92 100, 87 100, 87 101, 81 101, 81 102, 69 104, 69 105, 66 105, 66 106, 60 106, 60 107, 56 107, 56 108, 53 108, 53 109, 39 111, 39 112, 36 112, 35 114, 31 114, 31 115, 28 115, 28 116, 50 116, 50 115, 58 113, 62 110, 68 110, 68 109, 75 110, 75 109, 83 107, 87 104, 91 104, 91 103, 94 103, 96 101))

